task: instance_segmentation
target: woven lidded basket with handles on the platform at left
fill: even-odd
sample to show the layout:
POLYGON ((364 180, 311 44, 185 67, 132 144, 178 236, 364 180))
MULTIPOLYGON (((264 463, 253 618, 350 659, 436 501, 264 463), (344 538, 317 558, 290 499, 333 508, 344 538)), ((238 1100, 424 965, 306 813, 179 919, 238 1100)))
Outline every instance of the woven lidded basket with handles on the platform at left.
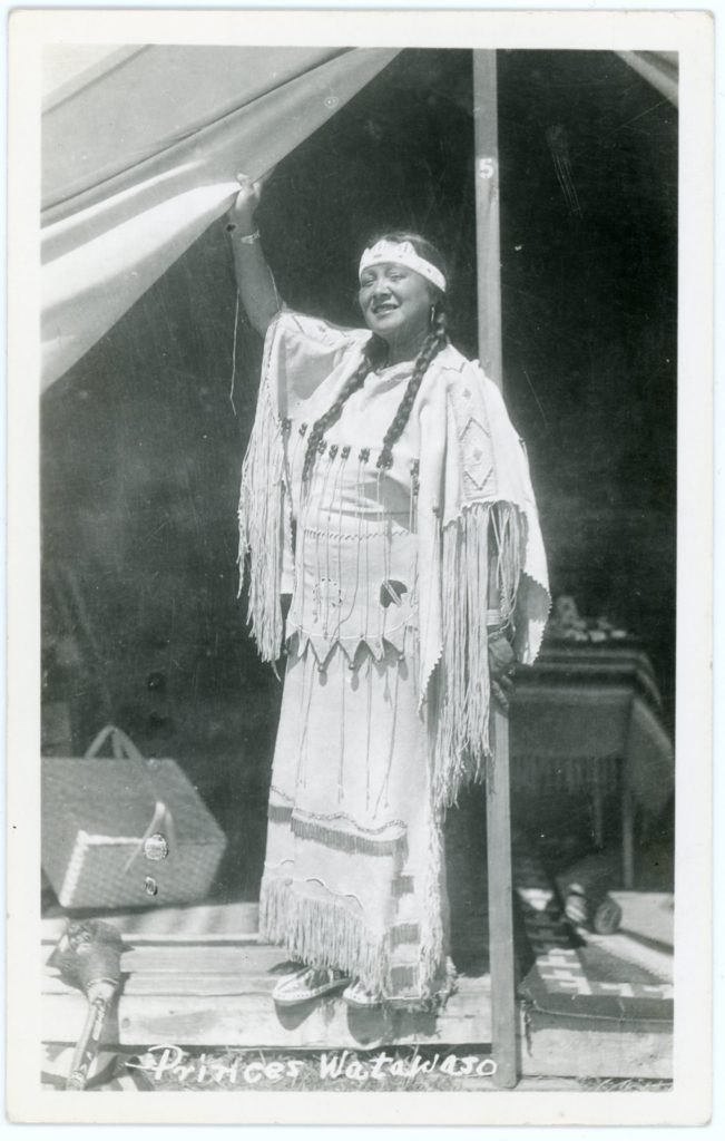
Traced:
POLYGON ((114 726, 85 756, 42 759, 42 867, 62 907, 203 899, 226 836, 176 761, 146 759, 114 726), (113 756, 100 756, 104 745, 113 756))

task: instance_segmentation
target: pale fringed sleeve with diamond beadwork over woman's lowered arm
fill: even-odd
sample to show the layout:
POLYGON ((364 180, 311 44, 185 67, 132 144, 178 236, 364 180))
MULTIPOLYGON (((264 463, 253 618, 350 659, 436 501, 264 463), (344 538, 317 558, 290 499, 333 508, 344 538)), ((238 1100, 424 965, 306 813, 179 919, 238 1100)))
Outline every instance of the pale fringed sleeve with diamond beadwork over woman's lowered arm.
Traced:
POLYGON ((421 418, 419 693, 430 704, 434 801, 445 806, 483 778, 491 756, 491 568, 520 662, 538 654, 551 599, 526 451, 499 390, 476 361, 447 350, 421 418))

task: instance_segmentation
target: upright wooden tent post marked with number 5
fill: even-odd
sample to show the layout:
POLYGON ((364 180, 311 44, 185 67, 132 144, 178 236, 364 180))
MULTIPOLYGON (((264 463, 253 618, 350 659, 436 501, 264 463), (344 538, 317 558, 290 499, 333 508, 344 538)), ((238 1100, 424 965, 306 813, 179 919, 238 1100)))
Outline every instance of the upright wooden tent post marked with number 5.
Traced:
MULTIPOLYGON (((502 374, 500 236, 498 195, 498 107, 496 52, 473 51, 475 129, 475 216, 478 246, 479 358, 499 388, 502 374)), ((486 606, 486 599, 481 599, 486 606)), ((486 796, 491 1047, 496 1084, 518 1082, 516 998, 511 868, 508 720, 492 713, 494 779, 486 796)))

